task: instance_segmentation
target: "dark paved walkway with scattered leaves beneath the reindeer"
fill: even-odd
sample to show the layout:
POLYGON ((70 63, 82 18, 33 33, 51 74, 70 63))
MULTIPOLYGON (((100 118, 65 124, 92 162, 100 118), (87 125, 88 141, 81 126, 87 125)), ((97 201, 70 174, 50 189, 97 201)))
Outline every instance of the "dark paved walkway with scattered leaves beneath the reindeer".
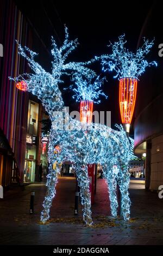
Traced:
POLYGON ((92 205, 95 225, 85 227, 82 209, 74 214, 74 178, 61 178, 57 184, 51 217, 39 223, 45 184, 32 184, 24 191, 7 192, 0 200, 1 245, 163 245, 163 199, 146 192, 143 181, 130 182, 131 220, 111 218, 108 191, 97 180, 96 203, 92 205), (29 214, 30 191, 35 191, 35 214, 29 214))

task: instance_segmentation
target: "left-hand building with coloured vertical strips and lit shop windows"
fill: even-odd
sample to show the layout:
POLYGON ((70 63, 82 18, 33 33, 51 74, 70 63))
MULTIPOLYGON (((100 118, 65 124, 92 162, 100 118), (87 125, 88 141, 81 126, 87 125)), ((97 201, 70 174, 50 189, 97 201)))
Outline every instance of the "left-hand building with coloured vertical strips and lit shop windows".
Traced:
MULTIPOLYGON (((0 57, 0 185, 3 187, 12 182, 39 180, 43 109, 36 97, 17 90, 9 76, 30 72, 26 60, 18 55, 16 40, 40 53, 39 62, 48 70, 49 35, 54 35, 54 27, 44 8, 33 3, 31 11, 29 4, 24 8, 21 1, 0 1, 0 44, 3 46, 3 57, 2 54, 0 57), (43 30, 43 26, 49 29, 43 30)), ((43 157, 47 164, 46 155, 43 157)))

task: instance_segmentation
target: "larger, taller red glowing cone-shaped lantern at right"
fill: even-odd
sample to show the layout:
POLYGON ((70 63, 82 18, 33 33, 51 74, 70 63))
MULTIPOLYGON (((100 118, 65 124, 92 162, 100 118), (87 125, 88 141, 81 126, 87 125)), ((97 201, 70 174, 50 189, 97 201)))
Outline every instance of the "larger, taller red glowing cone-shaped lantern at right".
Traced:
POLYGON ((137 80, 133 78, 121 78, 119 103, 123 124, 130 124, 133 118, 136 101, 137 80))

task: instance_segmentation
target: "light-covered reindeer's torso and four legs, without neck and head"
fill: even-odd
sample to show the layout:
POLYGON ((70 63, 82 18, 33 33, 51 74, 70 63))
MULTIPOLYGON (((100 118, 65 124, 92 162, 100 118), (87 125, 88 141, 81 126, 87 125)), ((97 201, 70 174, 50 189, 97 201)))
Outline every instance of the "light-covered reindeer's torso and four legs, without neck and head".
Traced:
POLYGON ((130 199, 128 196, 128 161, 130 160, 131 150, 130 143, 123 128, 121 128, 121 131, 115 131, 108 126, 93 123, 83 127, 82 123, 68 117, 68 113, 66 112, 65 119, 70 118, 70 129, 60 130, 59 127, 61 124, 58 123, 58 120, 62 120, 64 114, 64 110, 62 112, 57 110, 57 117, 54 118, 53 115, 54 126, 52 125, 48 154, 50 163, 47 181, 48 190, 43 203, 44 210, 41 214, 41 221, 46 222, 48 220, 49 209, 52 205, 52 199, 55 196, 57 172, 52 169, 53 163, 57 163, 57 171, 59 172, 60 163, 64 161, 71 161, 76 171, 82 196, 84 221, 86 224, 92 224, 87 165, 93 163, 99 163, 103 166, 113 216, 117 216, 117 182, 120 185, 122 194, 121 204, 124 206, 122 215, 124 220, 128 220, 130 207, 130 199), (61 117, 59 117, 59 113, 61 117), (59 145, 60 150, 57 154, 54 154, 56 144, 59 145), (123 176, 123 179, 118 180, 118 175, 123 176), (49 198, 51 199, 50 201, 49 198))

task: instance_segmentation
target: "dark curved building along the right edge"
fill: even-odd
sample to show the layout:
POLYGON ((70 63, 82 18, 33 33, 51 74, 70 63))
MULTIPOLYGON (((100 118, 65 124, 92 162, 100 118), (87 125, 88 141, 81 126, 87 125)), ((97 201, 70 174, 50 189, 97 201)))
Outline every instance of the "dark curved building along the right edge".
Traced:
POLYGON ((148 69, 140 78, 135 108, 135 153, 146 153, 146 189, 156 191, 163 184, 163 58, 160 44, 163 35, 160 31, 162 4, 153 4, 143 24, 142 36, 154 40, 149 60, 158 62, 157 68, 148 69))

